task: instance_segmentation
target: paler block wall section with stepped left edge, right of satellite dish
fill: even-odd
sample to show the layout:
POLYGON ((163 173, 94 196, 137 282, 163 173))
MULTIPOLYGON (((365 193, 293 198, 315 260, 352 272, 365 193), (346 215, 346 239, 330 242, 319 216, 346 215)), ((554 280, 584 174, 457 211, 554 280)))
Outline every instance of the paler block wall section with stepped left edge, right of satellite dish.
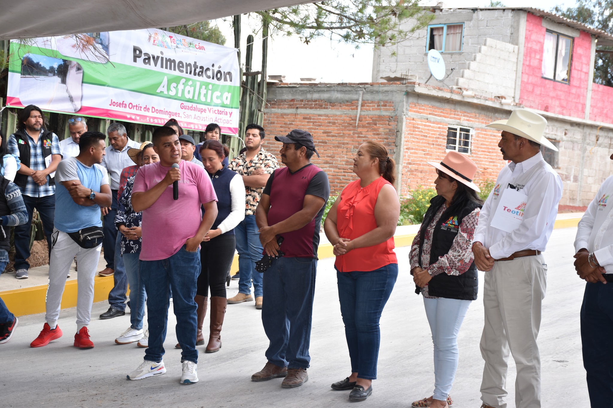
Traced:
POLYGON ((515 94, 517 72, 517 45, 494 39, 485 39, 474 54, 474 61, 460 71, 456 85, 485 97, 504 96, 512 99, 515 94))

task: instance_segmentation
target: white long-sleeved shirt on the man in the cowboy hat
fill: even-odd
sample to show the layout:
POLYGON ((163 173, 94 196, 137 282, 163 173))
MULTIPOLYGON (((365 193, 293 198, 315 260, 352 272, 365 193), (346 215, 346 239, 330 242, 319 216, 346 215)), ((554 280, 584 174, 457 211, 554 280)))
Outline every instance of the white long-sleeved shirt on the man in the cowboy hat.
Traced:
POLYGON ((507 258, 522 250, 544 251, 554 229, 558 201, 562 198, 562 180, 543 159, 541 152, 521 163, 509 163, 498 174, 496 187, 483 204, 473 242, 481 242, 494 259, 507 258), (533 169, 534 166, 538 168, 533 169), (530 179, 524 173, 533 169, 530 179), (490 226, 503 191, 515 185, 528 196, 524 220, 512 232, 490 226))

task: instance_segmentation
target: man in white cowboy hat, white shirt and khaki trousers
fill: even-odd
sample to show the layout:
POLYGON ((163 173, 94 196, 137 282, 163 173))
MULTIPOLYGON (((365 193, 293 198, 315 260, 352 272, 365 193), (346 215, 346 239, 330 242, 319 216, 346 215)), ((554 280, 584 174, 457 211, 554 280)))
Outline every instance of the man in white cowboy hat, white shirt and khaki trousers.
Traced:
POLYGON ((558 150, 543 135, 546 125, 543 116, 515 109, 508 120, 486 126, 502 130, 498 147, 511 163, 498 174, 473 239, 474 263, 485 272, 483 408, 506 408, 509 350, 517 366, 516 407, 541 406, 536 337, 547 275, 541 252, 562 198, 562 180, 541 154, 541 145, 558 150))

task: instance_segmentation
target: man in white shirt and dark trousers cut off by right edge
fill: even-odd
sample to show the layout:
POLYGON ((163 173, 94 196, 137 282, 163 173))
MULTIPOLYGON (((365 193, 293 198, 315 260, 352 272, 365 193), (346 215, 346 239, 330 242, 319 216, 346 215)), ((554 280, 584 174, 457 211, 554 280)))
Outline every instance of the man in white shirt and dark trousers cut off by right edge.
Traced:
MULTIPOLYGON (((611 155, 613 160, 613 155, 611 155)), ((581 306, 581 343, 592 407, 613 406, 613 176, 600 186, 579 221, 574 258, 587 281, 581 306)))

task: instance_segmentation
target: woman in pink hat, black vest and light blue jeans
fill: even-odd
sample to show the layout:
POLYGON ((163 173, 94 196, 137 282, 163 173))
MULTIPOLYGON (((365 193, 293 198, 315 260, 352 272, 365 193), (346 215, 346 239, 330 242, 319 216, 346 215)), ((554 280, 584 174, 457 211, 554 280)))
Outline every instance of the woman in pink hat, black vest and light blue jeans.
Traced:
POLYGON ((413 407, 444 408, 453 403, 449 391, 458 365, 457 336, 470 302, 477 299, 474 229, 483 202, 473 183, 477 165, 468 156, 449 152, 436 168, 436 193, 413 240, 411 275, 416 293, 424 296, 434 343, 434 394, 413 407))

